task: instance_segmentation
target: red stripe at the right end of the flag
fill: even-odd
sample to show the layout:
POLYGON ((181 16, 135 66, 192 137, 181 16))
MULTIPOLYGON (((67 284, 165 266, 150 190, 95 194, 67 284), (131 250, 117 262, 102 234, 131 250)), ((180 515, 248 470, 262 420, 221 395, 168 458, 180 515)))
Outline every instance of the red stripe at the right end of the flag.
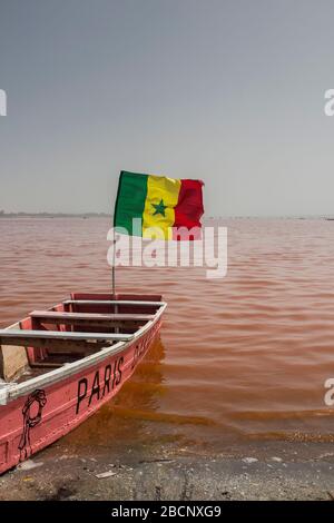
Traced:
MULTIPOLYGON (((178 201, 175 207, 175 223, 174 227, 202 227, 200 217, 204 213, 203 206, 203 188, 202 180, 181 180, 181 186, 178 195, 178 201)), ((200 235, 199 235, 200 237, 200 235)), ((183 239, 176 237, 175 239, 183 239)), ((185 238, 186 239, 186 238, 185 238)), ((189 239, 189 238, 187 238, 189 239)), ((198 239, 198 238, 190 238, 198 239)))

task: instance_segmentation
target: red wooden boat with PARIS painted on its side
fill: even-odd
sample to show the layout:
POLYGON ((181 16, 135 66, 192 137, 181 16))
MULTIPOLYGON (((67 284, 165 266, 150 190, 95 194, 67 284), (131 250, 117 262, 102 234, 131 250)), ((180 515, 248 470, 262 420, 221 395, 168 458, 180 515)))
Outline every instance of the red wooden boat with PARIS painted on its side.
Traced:
POLYGON ((72 294, 0 330, 0 473, 77 427, 131 376, 161 296, 72 294))

